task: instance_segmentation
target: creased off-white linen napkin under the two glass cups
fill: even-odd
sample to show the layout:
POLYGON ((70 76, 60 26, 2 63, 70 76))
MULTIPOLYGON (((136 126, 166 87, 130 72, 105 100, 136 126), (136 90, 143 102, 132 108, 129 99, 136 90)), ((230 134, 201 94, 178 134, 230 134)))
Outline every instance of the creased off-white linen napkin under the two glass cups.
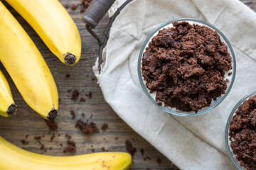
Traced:
MULTIPOLYGON (((110 15, 124 0, 117 1, 110 15)), ((181 169, 235 169, 224 131, 236 103, 256 90, 256 13, 237 0, 134 0, 114 21, 104 51, 103 72, 93 67, 105 100, 139 135, 181 169), (154 106, 139 84, 137 60, 146 37, 174 18, 200 18, 230 40, 237 60, 233 89, 204 115, 178 117, 154 106)))

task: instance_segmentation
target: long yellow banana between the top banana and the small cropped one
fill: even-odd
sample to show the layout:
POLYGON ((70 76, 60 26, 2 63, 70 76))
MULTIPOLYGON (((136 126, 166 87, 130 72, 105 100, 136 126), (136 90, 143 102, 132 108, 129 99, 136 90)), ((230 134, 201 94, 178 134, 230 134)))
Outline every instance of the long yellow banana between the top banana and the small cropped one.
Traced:
POLYGON ((58 91, 50 69, 28 34, 0 1, 0 60, 18 91, 43 118, 58 110, 58 91))

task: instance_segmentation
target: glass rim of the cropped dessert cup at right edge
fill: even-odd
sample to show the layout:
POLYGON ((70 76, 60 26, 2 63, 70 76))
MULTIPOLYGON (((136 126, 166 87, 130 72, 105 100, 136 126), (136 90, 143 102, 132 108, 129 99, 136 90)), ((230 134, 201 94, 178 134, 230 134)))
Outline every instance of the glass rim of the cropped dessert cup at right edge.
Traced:
POLYGON ((251 96, 254 96, 256 94, 256 91, 252 91, 250 94, 247 94, 245 97, 243 97, 233 108, 233 111, 230 113, 230 116, 228 117, 228 122, 227 125, 225 127, 225 145, 226 148, 228 150, 228 155, 230 157, 230 159, 232 160, 232 162, 235 164, 235 166, 240 169, 240 170, 246 170, 244 169, 240 163, 238 162, 237 159, 235 159, 235 154, 233 154, 233 150, 230 147, 230 140, 229 140, 229 135, 228 133, 230 132, 230 121, 232 120, 233 116, 235 115, 235 111, 238 110, 238 107, 244 102, 246 101, 248 98, 250 98, 251 96))

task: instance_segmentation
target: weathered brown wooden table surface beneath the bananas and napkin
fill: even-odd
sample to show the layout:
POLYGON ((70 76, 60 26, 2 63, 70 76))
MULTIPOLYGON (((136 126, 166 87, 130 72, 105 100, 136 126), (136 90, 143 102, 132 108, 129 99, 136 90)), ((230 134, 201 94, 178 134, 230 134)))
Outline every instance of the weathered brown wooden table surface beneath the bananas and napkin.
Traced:
MULTIPOLYGON (((80 0, 61 0, 60 2, 63 5, 71 5, 79 4, 80 0)), ((256 11, 255 0, 242 0, 242 2, 256 11)), ((65 137, 66 133, 72 135, 71 140, 75 141, 77 144, 77 152, 75 154, 92 153, 92 149, 95 149, 95 152, 102 152, 102 147, 108 149, 109 152, 126 152, 125 141, 129 140, 132 142, 132 145, 137 147, 137 152, 133 158, 134 164, 132 169, 178 169, 169 159, 166 159, 164 155, 154 149, 149 142, 146 142, 146 140, 134 132, 134 130, 129 128, 105 102, 100 87, 97 85, 97 81, 93 80, 94 74, 92 73, 92 66, 95 64, 98 52, 97 41, 85 30, 85 24, 80 21, 80 6, 78 6, 75 11, 69 8, 68 12, 80 30, 82 37, 82 57, 77 65, 68 67, 61 63, 58 58, 48 50, 48 47, 44 45, 31 26, 29 26, 14 9, 5 2, 4 4, 31 36, 33 42, 36 43, 36 46, 41 51, 50 67, 58 86, 60 109, 58 117, 56 118, 58 130, 55 131, 53 142, 50 142, 50 137, 53 135, 53 132, 48 134, 49 129, 46 122, 40 115, 27 106, 6 70, 0 65, 0 69, 6 75, 12 89, 14 100, 18 105, 18 113, 16 116, 0 118, 0 134, 2 137, 18 147, 23 147, 31 152, 48 155, 72 155, 71 153, 63 153, 63 148, 66 147, 66 141, 68 140, 65 137), (67 78, 66 74, 70 74, 70 78, 67 78), (70 92, 68 92, 69 89, 78 89, 80 92, 79 97, 86 98, 85 103, 80 102, 80 100, 72 101, 70 99, 70 92), (85 94, 89 92, 92 92, 92 98, 85 96, 85 94), (75 111, 76 114, 74 120, 71 119, 71 110, 75 111), (82 113, 85 113, 85 118, 82 118, 82 113), (90 118, 91 114, 92 118, 90 118), (95 122, 98 128, 101 128, 103 123, 107 123, 109 128, 105 130, 105 132, 100 130, 98 133, 86 136, 79 129, 74 127, 78 119, 89 119, 95 122), (27 139, 25 137, 26 135, 28 135, 27 139), (34 136, 38 135, 44 135, 41 139, 41 143, 47 149, 46 152, 43 152, 38 142, 33 139, 34 136), (23 145, 21 140, 28 141, 28 145, 23 145), (63 144, 63 147, 61 147, 60 144, 63 144), (49 149, 50 147, 52 147, 51 150, 49 149), (141 148, 144 149, 144 157, 141 152, 139 152, 141 148), (145 157, 149 157, 150 159, 144 160, 145 157), (160 159, 161 163, 157 163, 156 159, 160 159)), ((108 17, 105 16, 100 25, 97 26, 97 29, 95 29, 96 33, 102 35, 102 31, 105 30, 107 22, 108 17)))

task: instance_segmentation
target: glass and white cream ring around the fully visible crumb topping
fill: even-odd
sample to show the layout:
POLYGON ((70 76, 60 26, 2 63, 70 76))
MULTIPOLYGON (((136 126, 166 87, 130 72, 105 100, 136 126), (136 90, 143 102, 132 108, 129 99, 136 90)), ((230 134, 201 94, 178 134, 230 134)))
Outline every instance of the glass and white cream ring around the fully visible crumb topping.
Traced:
MULTIPOLYGON (((161 24, 161 26, 157 27, 155 30, 153 30, 149 36, 146 38, 146 40, 144 41, 144 44, 142 45, 142 49, 139 52, 139 59, 138 59, 138 65, 137 65, 137 69, 138 69, 138 75, 139 75, 139 82, 142 86, 142 89, 144 90, 144 93, 146 94, 146 96, 149 97, 149 99, 159 108, 161 108, 161 110, 166 111, 167 113, 171 113, 173 115, 179 115, 179 116, 193 116, 193 115, 201 115, 203 113, 207 113, 208 111, 213 110, 213 108, 215 108, 216 106, 218 106, 224 99, 226 96, 228 96, 230 89, 233 86, 233 83, 235 81, 235 72, 236 72, 236 62, 235 62, 235 53, 233 51, 233 47, 230 45, 230 42, 228 41, 228 39, 225 37, 225 35, 223 35, 223 33, 220 32, 220 30, 218 30, 218 28, 215 28, 215 26, 211 25, 210 23, 207 23, 206 21, 202 21, 200 19, 196 19, 196 18, 178 18, 178 19, 174 19, 171 21, 168 21, 166 23, 161 24), (149 42, 151 42, 151 39, 156 36, 159 32, 159 30, 163 29, 163 28, 168 28, 168 27, 172 27, 172 23, 174 21, 186 21, 190 24, 198 24, 199 26, 207 26, 208 28, 211 28, 212 30, 217 30, 218 35, 220 35, 220 39, 225 43, 225 45, 227 45, 228 47, 228 52, 230 53, 230 56, 232 57, 232 67, 233 69, 231 69, 228 72, 225 72, 225 79, 228 79, 229 82, 227 82, 227 86, 228 88, 225 91, 225 94, 221 95, 220 97, 218 97, 215 101, 212 101, 210 106, 202 108, 201 110, 199 110, 197 113, 194 111, 191 112, 184 112, 184 111, 178 111, 176 108, 171 108, 171 107, 165 107, 165 106, 159 106, 156 103, 155 97, 156 94, 151 94, 149 93, 149 89, 147 89, 146 87, 146 81, 144 81, 144 78, 142 77, 142 57, 143 57, 143 53, 146 50, 146 47, 148 47, 149 42), (232 74, 229 76, 228 73, 232 72, 232 74)), ((164 105, 164 103, 163 103, 164 105)))

